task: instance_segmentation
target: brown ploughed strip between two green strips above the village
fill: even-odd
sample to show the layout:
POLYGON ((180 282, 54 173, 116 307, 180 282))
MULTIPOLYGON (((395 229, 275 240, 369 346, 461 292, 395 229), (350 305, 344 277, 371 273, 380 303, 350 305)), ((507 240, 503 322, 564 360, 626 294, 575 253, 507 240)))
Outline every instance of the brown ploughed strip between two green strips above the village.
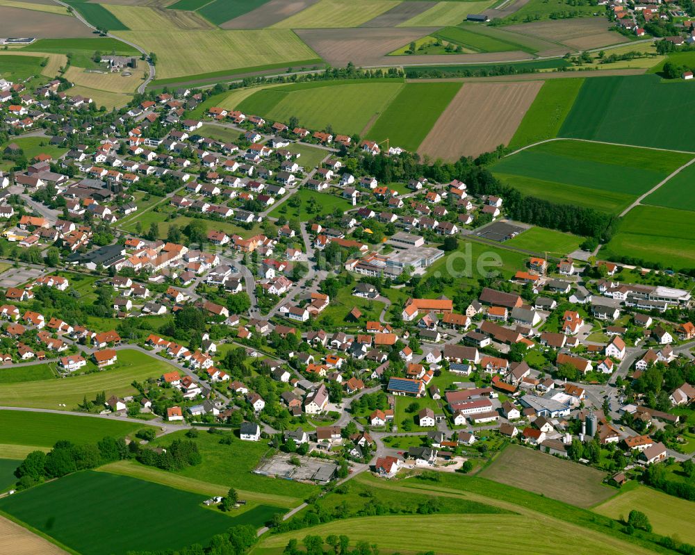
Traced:
POLYGON ((541 81, 464 84, 420 144, 418 154, 453 162, 507 144, 541 85, 541 81))

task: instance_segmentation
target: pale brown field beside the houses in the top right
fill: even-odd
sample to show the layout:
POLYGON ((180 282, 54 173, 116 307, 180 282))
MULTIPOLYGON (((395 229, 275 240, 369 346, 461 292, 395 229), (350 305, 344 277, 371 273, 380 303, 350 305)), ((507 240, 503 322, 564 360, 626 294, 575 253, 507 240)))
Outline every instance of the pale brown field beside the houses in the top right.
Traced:
POLYGON ((575 50, 607 47, 627 42, 620 33, 609 31, 610 22, 605 17, 586 17, 523 23, 507 27, 507 31, 519 35, 539 37, 550 42, 561 42, 575 50))

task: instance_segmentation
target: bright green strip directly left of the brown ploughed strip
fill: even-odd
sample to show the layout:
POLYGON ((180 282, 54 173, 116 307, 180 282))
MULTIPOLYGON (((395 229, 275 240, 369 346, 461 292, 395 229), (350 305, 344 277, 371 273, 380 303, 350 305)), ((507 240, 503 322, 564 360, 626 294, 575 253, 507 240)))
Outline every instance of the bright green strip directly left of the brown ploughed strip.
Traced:
POLYGON ((460 88, 461 83, 406 83, 366 137, 416 151, 460 88))

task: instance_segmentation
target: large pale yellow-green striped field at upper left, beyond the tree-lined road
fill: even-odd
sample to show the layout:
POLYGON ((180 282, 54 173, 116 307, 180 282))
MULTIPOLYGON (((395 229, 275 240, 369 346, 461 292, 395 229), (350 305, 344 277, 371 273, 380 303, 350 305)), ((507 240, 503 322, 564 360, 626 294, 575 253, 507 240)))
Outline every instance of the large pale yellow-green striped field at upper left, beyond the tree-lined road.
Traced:
POLYGON ((293 31, 122 31, 126 40, 157 53, 161 79, 218 74, 257 67, 315 60, 316 53, 293 31))

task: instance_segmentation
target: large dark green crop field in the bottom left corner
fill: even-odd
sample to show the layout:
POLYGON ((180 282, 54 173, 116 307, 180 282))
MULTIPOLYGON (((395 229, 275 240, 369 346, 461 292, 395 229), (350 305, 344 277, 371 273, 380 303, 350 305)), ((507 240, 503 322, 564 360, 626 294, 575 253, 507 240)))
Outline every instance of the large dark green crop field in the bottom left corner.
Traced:
POLYGON ((277 511, 259 506, 230 517, 204 508, 205 499, 136 478, 84 471, 0 499, 0 511, 83 555, 207 545, 230 526, 260 526, 277 511), (105 510, 108 517, 95 519, 105 510))

